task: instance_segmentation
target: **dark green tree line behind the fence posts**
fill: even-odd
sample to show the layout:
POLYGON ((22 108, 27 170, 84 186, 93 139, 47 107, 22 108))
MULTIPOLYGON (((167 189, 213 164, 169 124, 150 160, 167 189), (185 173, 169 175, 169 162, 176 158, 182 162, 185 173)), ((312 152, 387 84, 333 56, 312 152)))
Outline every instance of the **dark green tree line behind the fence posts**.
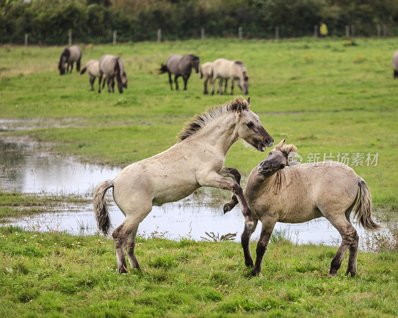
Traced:
POLYGON ((356 35, 375 36, 386 24, 398 34, 397 0, 0 0, 0 42, 65 44, 108 43, 113 30, 121 42, 206 36, 273 38, 308 36, 326 23, 329 34, 343 36, 346 25, 356 35))

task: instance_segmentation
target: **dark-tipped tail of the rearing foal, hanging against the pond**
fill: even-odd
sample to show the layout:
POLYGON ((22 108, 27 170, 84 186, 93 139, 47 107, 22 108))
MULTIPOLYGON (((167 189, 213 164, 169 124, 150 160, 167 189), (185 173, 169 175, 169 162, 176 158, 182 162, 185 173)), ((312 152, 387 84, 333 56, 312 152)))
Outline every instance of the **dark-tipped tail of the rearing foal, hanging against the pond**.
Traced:
POLYGON ((94 191, 93 205, 94 213, 96 215, 98 228, 102 231, 103 235, 108 235, 110 227, 110 219, 108 213, 108 205, 105 202, 105 194, 109 188, 113 187, 113 180, 106 180, 99 184, 94 191))

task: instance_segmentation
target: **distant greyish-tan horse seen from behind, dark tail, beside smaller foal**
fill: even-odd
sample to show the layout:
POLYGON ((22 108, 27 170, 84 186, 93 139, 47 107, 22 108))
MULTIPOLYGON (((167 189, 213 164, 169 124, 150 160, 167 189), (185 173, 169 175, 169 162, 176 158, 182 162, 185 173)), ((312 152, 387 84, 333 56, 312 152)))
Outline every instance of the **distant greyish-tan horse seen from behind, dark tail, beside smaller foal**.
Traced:
MULTIPOLYGON (((103 75, 106 76, 106 83, 108 84, 108 92, 110 93, 110 88, 112 88, 112 93, 114 90, 114 77, 117 81, 117 89, 119 93, 123 93, 123 87, 127 88, 127 75, 124 72, 123 61, 118 55, 105 54, 100 59, 100 84, 103 75)), ((105 85, 105 79, 103 80, 102 88, 105 85)), ((98 87, 98 92, 101 92, 100 86, 98 87)))

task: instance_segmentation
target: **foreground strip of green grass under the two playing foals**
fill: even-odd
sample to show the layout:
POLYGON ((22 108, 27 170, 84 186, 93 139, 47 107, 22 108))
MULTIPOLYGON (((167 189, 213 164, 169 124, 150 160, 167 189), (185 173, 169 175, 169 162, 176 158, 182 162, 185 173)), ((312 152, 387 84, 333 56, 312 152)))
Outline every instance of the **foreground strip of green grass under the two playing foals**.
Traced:
MULTIPOLYGON (((247 278, 240 244, 138 238, 142 272, 119 276, 99 236, 0 228, 1 317, 396 317, 397 253, 358 255, 333 278, 335 247, 271 243, 247 278)), ((254 243, 251 249, 255 251, 254 243)))

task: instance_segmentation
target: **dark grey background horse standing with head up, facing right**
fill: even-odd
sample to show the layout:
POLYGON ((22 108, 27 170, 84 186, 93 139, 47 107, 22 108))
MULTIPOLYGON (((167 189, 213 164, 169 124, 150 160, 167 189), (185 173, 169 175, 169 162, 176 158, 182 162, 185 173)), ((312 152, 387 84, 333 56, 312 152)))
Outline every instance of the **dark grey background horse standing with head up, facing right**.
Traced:
POLYGON ((187 82, 191 76, 192 68, 196 73, 199 73, 199 57, 186 54, 184 56, 178 54, 169 55, 166 60, 166 65, 161 64, 160 74, 169 74, 170 89, 173 90, 171 75, 174 74, 174 82, 176 83, 176 90, 178 90, 177 79, 182 76, 184 79, 184 90, 187 90, 187 82))

